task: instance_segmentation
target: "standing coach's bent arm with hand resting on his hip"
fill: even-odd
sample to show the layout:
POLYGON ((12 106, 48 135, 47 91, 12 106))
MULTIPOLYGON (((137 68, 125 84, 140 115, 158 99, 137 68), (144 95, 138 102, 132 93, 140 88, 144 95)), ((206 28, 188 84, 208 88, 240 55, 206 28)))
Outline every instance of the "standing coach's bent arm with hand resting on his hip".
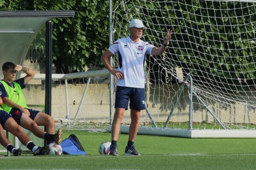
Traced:
POLYGON ((102 56, 100 57, 100 59, 102 60, 103 64, 105 65, 105 67, 108 69, 108 71, 113 75, 113 76, 116 76, 117 79, 123 79, 124 78, 124 75, 122 72, 120 71, 116 71, 111 65, 110 65, 110 62, 109 62, 109 58, 112 57, 113 54, 107 50, 105 51, 105 53, 102 54, 102 56))

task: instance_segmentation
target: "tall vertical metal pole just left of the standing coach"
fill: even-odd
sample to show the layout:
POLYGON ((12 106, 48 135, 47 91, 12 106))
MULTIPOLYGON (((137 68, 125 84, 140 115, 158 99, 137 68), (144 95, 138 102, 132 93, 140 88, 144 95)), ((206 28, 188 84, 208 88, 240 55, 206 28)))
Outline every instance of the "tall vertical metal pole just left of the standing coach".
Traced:
MULTIPOLYGON (((108 27, 109 27, 109 46, 112 43, 112 0, 109 0, 109 21, 108 21, 108 27)), ((112 57, 109 59, 110 65, 113 67, 112 64, 112 57)), ((109 121, 112 124, 112 118, 113 118, 113 76, 110 73, 109 74, 109 121)))

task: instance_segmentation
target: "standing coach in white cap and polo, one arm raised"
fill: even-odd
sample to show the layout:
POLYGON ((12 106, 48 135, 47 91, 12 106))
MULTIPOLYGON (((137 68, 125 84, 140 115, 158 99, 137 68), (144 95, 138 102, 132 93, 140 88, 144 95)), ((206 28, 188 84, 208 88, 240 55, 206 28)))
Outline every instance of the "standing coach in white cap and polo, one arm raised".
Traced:
POLYGON ((115 114, 112 122, 112 137, 109 153, 112 156, 118 156, 116 142, 125 110, 128 109, 129 99, 131 125, 128 144, 125 148, 125 156, 140 156, 140 153, 135 150, 134 141, 139 130, 140 111, 145 109, 143 69, 145 55, 163 54, 172 37, 172 31, 168 30, 166 36, 163 37, 163 44, 157 48, 148 42, 140 40, 143 29, 146 29, 146 27, 141 20, 132 20, 129 27, 130 36, 114 42, 101 57, 105 67, 117 78, 115 114), (118 56, 118 71, 112 68, 109 62, 109 58, 114 54, 118 56))

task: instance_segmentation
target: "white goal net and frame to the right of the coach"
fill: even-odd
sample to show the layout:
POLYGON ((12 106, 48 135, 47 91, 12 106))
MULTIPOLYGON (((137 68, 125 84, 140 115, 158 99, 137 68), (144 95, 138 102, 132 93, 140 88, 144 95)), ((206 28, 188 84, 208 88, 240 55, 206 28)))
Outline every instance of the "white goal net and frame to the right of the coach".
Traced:
POLYGON ((135 18, 156 47, 173 31, 163 55, 146 56, 141 133, 255 137, 256 2, 116 0, 112 16, 113 41, 128 37, 135 18))

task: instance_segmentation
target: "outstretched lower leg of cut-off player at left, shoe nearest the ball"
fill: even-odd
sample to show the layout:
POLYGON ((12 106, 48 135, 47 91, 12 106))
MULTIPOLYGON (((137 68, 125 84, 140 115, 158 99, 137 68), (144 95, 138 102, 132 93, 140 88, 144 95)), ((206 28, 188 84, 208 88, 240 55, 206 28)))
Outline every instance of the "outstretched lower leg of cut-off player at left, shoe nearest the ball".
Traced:
POLYGON ((29 150, 31 150, 34 155, 47 155, 49 153, 48 146, 37 147, 12 117, 6 120, 4 128, 12 133, 14 136, 17 136, 20 142, 25 145, 29 150))

